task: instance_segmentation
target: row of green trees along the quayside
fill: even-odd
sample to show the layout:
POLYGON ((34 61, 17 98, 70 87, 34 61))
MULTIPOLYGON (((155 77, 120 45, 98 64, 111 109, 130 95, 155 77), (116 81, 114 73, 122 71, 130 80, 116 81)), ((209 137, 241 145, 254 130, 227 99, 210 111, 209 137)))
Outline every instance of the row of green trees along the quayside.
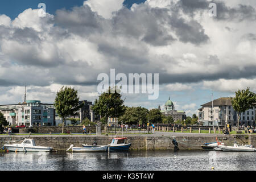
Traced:
MULTIPOLYGON (((119 94, 118 91, 119 89, 117 88, 109 88, 94 102, 92 109, 96 115, 101 116, 103 123, 107 123, 108 118, 118 118, 118 120, 123 123, 140 125, 146 124, 147 122, 174 123, 174 119, 171 116, 166 117, 162 115, 159 109, 149 111, 144 107, 127 107, 123 105, 124 100, 122 100, 122 95, 119 94)), ((236 97, 232 98, 232 105, 234 110, 238 113, 238 123, 241 113, 255 106, 255 102, 255 93, 250 92, 249 88, 236 92, 236 97)), ((63 131, 65 119, 69 115, 73 115, 82 105, 83 104, 79 105, 77 90, 63 87, 57 92, 54 106, 56 107, 57 114, 63 118, 63 131)), ((197 123, 197 120, 196 114, 193 114, 192 117, 187 117, 185 121, 176 121, 176 123, 193 125, 197 123)))

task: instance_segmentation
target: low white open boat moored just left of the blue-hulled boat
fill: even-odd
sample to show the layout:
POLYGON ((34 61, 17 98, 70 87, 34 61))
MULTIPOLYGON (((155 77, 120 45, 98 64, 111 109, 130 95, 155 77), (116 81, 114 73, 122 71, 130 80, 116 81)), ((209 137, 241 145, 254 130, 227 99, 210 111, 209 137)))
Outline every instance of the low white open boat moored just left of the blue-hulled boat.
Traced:
MULTIPOLYGON (((84 145, 83 145, 84 146, 84 145)), ((74 147, 73 144, 67 149, 72 152, 107 152, 108 146, 86 146, 86 147, 74 147)))

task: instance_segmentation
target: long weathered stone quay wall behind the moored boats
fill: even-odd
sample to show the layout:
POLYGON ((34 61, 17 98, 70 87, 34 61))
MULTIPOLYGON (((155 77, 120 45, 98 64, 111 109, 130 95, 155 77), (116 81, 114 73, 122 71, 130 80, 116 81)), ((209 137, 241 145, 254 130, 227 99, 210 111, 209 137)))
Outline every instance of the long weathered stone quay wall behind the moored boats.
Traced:
MULTIPOLYGON (((113 137, 109 136, 35 136, 31 135, 30 138, 34 139, 38 146, 49 146, 56 150, 64 150, 69 148, 71 144, 75 147, 82 147, 82 144, 92 144, 94 141, 98 145, 110 144, 113 137)), ((1 136, 0 137, 0 147, 6 142, 17 141, 23 139, 23 137, 16 136, 1 136)), ((172 139, 175 139, 178 143, 180 150, 201 150, 201 145, 208 142, 216 141, 216 136, 204 136, 204 137, 146 137, 146 136, 133 136, 127 137, 127 142, 131 143, 131 150, 174 150, 174 144, 172 144, 172 139)), ((234 140, 239 144, 253 144, 256 146, 256 136, 254 135, 229 135, 218 137, 218 140, 224 142, 225 145, 233 146, 234 140)), ((21 143, 20 140, 18 143, 21 143)))

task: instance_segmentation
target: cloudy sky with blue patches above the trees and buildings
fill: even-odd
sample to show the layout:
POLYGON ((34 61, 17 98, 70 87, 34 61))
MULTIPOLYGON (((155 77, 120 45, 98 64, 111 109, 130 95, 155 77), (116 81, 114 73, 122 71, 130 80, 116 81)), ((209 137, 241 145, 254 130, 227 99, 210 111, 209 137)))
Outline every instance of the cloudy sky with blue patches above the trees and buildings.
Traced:
POLYGON ((73 0, 0 2, 0 105, 53 103, 61 86, 98 96, 100 73, 159 73, 159 97, 123 94, 147 109, 170 97, 197 112, 238 89, 256 92, 256 1, 73 0), (39 16, 39 3, 46 16, 39 16), (209 3, 216 15, 209 16, 209 3))

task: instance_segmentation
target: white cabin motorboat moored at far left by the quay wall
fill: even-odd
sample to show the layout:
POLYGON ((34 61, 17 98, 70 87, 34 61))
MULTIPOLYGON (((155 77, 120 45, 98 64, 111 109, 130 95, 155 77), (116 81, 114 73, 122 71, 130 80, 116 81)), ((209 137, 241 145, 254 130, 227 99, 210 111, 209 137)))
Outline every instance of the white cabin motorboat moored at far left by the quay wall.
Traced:
POLYGON ((5 144, 3 147, 11 152, 50 152, 52 147, 36 146, 35 140, 24 139, 22 143, 5 144))

